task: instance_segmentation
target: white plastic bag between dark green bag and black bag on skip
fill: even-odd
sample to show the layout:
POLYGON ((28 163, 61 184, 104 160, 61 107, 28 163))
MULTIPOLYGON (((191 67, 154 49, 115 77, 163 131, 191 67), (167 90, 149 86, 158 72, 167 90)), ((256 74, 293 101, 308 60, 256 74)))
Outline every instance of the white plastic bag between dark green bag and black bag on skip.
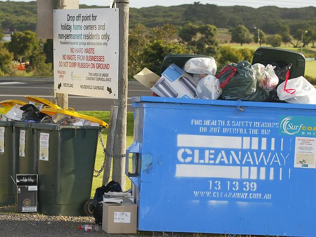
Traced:
POLYGON ((256 78, 259 83, 259 87, 261 87, 264 91, 270 92, 276 88, 279 83, 279 78, 274 72, 275 66, 268 64, 264 67, 263 64, 256 63, 252 65, 252 67, 256 70, 256 78))

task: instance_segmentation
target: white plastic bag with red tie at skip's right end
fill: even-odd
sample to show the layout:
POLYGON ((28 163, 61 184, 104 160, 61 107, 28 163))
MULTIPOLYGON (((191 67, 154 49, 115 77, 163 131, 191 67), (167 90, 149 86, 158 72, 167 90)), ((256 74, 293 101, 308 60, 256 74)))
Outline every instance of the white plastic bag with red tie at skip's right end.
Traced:
POLYGON ((280 100, 288 103, 316 104, 316 89, 303 76, 284 81, 278 86, 277 92, 280 100))

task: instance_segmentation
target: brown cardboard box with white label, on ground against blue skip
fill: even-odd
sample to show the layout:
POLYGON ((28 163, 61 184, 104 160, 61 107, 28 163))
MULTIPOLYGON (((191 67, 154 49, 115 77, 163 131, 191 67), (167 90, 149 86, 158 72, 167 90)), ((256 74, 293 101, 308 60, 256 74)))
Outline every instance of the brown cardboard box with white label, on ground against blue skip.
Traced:
POLYGON ((102 230, 108 234, 137 233, 137 205, 123 198, 122 203, 103 203, 102 230))

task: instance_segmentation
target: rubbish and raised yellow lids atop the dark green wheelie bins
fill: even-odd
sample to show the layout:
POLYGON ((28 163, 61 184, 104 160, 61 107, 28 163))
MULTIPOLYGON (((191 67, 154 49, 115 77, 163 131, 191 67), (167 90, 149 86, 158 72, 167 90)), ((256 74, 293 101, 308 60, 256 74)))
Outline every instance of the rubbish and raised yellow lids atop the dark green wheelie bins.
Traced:
POLYGON ((108 125, 100 119, 78 113, 72 108, 62 109, 45 98, 33 95, 27 95, 25 98, 29 101, 28 103, 20 100, 1 101, 1 121, 108 127, 108 125))

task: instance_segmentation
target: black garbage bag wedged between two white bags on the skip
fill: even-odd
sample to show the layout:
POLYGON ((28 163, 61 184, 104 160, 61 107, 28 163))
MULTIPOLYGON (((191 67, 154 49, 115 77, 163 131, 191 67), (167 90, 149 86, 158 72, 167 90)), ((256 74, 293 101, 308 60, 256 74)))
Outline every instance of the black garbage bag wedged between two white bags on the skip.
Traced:
POLYGON ((279 77, 279 83, 274 90, 270 91, 270 95, 267 98, 267 102, 286 103, 285 101, 279 99, 277 88, 280 86, 281 83, 288 79, 292 68, 292 64, 288 64, 285 62, 271 62, 271 65, 276 66, 274 72, 279 77))

